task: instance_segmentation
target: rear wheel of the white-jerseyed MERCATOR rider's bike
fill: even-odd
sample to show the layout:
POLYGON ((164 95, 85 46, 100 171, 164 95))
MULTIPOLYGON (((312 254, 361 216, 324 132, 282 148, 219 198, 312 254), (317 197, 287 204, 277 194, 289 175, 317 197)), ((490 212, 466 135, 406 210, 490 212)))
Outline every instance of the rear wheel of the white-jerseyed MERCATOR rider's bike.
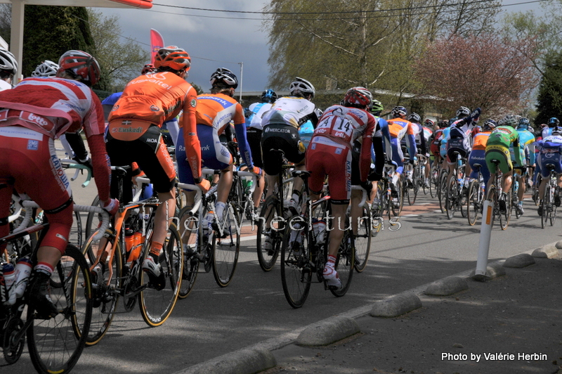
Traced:
POLYGON ((279 250, 283 241, 284 228, 281 222, 271 222, 275 217, 282 217, 278 212, 277 197, 271 195, 266 199, 261 208, 261 213, 257 221, 258 233, 256 240, 256 250, 258 252, 259 266, 263 271, 270 271, 277 261, 279 250), (266 222, 271 222, 271 228, 266 230, 266 222), (270 249, 263 249, 266 238, 271 240, 272 247, 270 249))

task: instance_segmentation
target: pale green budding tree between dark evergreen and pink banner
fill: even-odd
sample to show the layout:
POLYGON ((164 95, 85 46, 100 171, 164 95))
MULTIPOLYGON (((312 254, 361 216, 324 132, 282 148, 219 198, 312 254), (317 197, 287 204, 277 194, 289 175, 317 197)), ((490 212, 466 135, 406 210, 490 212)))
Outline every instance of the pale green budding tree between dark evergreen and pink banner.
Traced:
POLYGON ((104 17, 100 11, 88 8, 88 16, 96 59, 102 70, 98 87, 122 91, 125 84, 141 75, 143 65, 150 62, 150 54, 129 38, 120 41, 122 31, 117 15, 104 17))

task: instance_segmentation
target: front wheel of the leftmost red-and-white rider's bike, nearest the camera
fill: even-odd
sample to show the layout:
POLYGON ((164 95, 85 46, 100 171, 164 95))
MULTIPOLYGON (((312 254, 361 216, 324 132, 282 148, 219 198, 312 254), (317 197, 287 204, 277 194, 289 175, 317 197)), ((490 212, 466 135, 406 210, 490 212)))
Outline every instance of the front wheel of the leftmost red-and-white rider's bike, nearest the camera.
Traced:
POLYGON ((27 347, 39 373, 69 373, 86 344, 92 318, 92 290, 89 267, 80 250, 69 244, 55 269, 62 285, 51 287, 51 299, 57 316, 35 318, 32 305, 27 306, 27 347), (70 271, 70 272, 69 272, 70 271))

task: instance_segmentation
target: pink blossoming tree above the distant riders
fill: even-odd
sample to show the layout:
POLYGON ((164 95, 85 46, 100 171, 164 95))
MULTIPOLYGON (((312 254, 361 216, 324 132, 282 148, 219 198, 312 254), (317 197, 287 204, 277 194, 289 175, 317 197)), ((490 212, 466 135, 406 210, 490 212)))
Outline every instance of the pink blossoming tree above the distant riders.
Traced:
POLYGON ((460 105, 486 116, 521 112, 537 84, 530 59, 533 39, 507 41, 495 34, 437 39, 417 60, 420 94, 451 115, 460 105))

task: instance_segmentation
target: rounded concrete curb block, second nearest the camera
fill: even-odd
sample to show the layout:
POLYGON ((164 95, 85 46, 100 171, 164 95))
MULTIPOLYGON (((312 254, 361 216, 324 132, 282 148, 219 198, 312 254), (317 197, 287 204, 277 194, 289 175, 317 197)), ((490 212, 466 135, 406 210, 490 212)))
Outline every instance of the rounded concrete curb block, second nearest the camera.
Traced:
POLYGON ((306 327, 294 344, 304 346, 329 345, 360 333, 357 322, 352 318, 334 317, 306 327))

